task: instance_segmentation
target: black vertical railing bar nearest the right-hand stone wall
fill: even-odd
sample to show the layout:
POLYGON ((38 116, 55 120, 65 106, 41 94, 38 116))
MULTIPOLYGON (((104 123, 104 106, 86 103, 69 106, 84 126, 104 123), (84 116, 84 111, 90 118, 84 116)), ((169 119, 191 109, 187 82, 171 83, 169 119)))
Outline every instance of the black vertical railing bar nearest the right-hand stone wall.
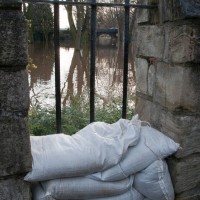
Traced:
POLYGON ((129 52, 129 0, 125 0, 125 24, 124 24, 124 73, 123 73, 123 100, 122 118, 126 118, 127 112, 127 88, 128 88, 128 52, 129 52))

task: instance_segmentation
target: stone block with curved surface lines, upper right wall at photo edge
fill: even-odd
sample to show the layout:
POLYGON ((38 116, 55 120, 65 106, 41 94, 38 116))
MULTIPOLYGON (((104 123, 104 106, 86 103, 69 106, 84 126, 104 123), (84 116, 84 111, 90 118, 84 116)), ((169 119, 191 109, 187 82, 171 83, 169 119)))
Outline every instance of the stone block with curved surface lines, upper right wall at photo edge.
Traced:
POLYGON ((173 24, 169 32, 169 58, 173 63, 200 62, 200 20, 173 24))

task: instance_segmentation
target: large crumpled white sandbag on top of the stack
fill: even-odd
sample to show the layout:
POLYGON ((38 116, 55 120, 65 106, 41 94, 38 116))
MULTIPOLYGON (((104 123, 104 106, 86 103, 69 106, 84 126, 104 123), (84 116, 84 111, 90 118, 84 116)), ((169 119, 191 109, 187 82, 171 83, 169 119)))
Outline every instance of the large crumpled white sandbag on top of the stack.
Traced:
POLYGON ((112 167, 138 143, 139 131, 139 126, 120 119, 114 124, 94 122, 72 136, 31 136, 32 171, 25 180, 85 176, 112 167))

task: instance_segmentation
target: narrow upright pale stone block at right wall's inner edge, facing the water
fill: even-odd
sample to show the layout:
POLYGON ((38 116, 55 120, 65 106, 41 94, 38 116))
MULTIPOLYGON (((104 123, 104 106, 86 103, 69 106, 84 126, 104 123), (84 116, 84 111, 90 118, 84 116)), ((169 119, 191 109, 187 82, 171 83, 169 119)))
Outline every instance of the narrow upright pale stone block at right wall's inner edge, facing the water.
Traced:
POLYGON ((147 93, 148 86, 148 62, 146 59, 136 59, 136 85, 137 91, 147 93))

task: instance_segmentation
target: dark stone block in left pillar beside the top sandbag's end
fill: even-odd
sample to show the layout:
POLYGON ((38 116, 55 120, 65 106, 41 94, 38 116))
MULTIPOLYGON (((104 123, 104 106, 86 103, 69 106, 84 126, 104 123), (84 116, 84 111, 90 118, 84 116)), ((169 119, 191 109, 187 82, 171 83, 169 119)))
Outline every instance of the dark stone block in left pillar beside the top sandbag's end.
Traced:
POLYGON ((31 170, 27 118, 0 115, 0 174, 25 174, 31 170))

